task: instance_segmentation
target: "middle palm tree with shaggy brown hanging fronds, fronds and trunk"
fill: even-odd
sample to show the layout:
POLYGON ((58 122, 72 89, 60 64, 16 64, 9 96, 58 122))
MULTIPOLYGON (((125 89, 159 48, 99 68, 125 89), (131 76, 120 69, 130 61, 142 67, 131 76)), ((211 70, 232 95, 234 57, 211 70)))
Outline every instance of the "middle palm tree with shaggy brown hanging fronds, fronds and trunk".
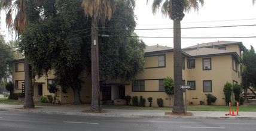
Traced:
POLYGON ((98 51, 98 24, 105 25, 115 11, 115 0, 83 0, 84 14, 92 17, 92 106, 91 110, 100 111, 99 96, 99 51, 98 51))

